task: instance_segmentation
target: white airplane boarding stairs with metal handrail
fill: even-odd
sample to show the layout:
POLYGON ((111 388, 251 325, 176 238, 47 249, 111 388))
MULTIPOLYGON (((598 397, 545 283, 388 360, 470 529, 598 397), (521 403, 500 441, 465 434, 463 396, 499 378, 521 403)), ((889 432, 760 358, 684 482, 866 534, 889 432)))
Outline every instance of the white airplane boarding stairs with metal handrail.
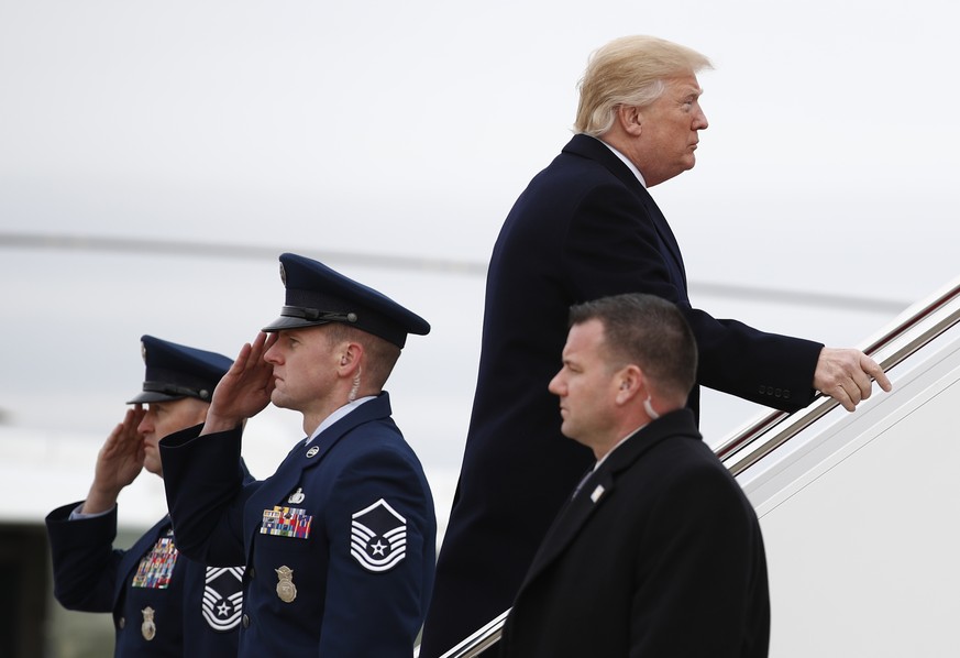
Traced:
MULTIPOLYGON (((960 279, 864 351, 891 393, 852 414, 820 397, 716 449, 763 529, 772 658, 960 656, 960 279)), ((443 658, 494 646, 507 612, 443 658)))

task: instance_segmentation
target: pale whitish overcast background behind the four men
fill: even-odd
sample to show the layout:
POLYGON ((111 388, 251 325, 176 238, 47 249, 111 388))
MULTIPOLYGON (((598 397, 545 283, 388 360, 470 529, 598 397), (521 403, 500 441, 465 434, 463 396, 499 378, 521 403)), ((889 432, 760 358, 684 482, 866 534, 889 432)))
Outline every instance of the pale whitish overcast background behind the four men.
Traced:
MULTIPOLYGON (((694 303, 860 344, 957 276, 955 26, 931 0, 0 0, 5 427, 99 441, 140 386, 142 333, 233 355, 283 303, 276 256, 306 253, 433 323, 389 388, 445 516, 490 248, 569 139, 588 54, 630 33, 715 64, 698 164, 652 190, 694 303)), ((758 413, 708 397, 705 434, 758 413)))

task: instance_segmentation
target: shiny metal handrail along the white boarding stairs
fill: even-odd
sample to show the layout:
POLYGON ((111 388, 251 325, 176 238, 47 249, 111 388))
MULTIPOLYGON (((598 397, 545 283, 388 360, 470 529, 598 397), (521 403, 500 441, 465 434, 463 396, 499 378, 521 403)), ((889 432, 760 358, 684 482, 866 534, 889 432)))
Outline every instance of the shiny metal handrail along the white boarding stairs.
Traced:
MULTIPOLYGON (((884 372, 889 372, 893 366, 944 335, 958 322, 960 322, 960 283, 955 283, 946 293, 936 295, 930 303, 912 312, 907 319, 884 333, 863 352, 873 358, 907 333, 919 330, 917 336, 909 338, 904 346, 879 361, 884 372)), ((764 416, 746 430, 721 443, 715 449, 715 452, 733 475, 739 475, 837 406, 839 403, 836 399, 818 394, 814 402, 801 412, 794 414, 774 412, 764 416), (783 424, 786 426, 773 437, 764 439, 769 432, 783 424)), ((503 635, 504 623, 507 621, 510 610, 507 608, 490 619, 473 635, 443 654, 441 658, 475 658, 497 644, 503 635)))

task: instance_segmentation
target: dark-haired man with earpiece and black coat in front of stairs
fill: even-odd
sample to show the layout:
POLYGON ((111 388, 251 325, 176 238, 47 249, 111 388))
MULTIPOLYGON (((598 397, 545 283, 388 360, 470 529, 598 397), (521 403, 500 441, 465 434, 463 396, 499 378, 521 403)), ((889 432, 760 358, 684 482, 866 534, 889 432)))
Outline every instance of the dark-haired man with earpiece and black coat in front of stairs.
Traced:
POLYGON ((504 629, 504 658, 762 658, 760 525, 685 407, 696 343, 652 295, 575 306, 550 383, 595 468, 547 533, 504 629))

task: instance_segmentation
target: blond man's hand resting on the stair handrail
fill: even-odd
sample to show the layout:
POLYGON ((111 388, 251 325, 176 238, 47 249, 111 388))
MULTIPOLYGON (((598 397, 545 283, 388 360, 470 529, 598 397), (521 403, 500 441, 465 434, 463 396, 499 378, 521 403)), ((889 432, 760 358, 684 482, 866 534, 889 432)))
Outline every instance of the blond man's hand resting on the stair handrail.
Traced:
POLYGON ((890 392, 893 387, 883 369, 860 350, 820 350, 814 372, 814 388, 839 402, 848 412, 870 397, 873 380, 883 391, 890 392))

